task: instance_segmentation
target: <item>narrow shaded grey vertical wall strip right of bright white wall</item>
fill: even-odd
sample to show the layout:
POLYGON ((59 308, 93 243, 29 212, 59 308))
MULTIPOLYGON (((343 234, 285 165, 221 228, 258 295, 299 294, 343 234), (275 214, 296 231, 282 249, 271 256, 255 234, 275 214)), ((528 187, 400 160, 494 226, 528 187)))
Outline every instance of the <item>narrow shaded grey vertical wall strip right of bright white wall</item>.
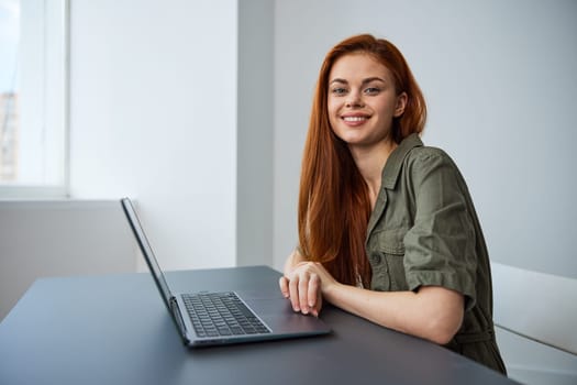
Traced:
POLYGON ((274 10, 238 2, 236 262, 273 263, 274 10))

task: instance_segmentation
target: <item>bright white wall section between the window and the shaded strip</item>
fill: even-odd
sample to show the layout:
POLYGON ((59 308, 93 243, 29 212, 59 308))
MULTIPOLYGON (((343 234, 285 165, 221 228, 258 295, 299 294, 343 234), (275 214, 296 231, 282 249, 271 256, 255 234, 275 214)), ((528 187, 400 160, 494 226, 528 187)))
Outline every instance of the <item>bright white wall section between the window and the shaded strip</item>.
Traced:
POLYGON ((135 198, 167 270, 234 265, 237 2, 70 12, 73 198, 135 198))

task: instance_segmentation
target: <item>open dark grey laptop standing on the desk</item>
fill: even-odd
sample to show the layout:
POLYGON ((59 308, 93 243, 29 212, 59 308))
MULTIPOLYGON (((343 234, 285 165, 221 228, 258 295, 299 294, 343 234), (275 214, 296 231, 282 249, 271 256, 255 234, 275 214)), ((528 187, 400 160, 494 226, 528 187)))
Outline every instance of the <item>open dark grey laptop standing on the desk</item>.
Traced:
POLYGON ((184 343, 190 348, 328 334, 319 318, 295 312, 278 287, 258 293, 173 293, 130 198, 122 208, 184 343))

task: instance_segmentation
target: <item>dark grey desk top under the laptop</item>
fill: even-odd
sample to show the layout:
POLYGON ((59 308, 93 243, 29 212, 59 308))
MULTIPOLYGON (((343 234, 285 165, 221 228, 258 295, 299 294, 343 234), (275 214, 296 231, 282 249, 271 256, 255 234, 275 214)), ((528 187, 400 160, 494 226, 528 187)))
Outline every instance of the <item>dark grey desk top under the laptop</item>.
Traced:
MULTIPOLYGON (((276 287, 238 267, 168 273, 174 290, 276 287)), ((0 384, 513 384, 336 308, 330 336, 187 350, 149 274, 40 279, 0 323, 0 384)))

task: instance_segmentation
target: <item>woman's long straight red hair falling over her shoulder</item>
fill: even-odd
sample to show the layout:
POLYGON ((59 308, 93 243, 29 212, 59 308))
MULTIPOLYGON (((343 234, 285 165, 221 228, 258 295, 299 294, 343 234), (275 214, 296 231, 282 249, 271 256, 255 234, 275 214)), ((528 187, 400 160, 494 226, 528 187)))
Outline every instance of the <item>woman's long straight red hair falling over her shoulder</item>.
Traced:
POLYGON ((390 42, 364 34, 335 45, 324 58, 317 82, 300 178, 298 226, 301 253, 321 262, 341 283, 365 287, 370 265, 365 238, 370 216, 368 189, 345 142, 332 131, 328 114, 329 75, 334 63, 352 53, 366 53, 385 65, 395 79, 397 95, 407 106, 392 123, 399 143, 422 132, 426 120, 423 95, 400 51, 390 42))

